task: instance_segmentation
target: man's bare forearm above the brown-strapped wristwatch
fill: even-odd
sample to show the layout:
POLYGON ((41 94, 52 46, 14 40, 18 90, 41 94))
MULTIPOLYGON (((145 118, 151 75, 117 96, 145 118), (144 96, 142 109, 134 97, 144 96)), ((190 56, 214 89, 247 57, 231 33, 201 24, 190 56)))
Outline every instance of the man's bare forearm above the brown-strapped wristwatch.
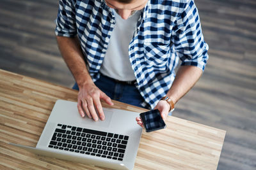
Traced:
POLYGON ((172 99, 173 103, 177 103, 199 80, 202 70, 196 66, 180 66, 172 87, 166 96, 172 99))

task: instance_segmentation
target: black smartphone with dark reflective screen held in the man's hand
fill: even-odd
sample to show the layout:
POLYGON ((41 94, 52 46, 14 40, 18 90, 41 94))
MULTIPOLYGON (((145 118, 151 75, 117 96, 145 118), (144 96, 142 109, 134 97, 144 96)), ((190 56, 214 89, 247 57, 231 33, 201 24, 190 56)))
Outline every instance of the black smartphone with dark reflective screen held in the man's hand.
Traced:
POLYGON ((164 123, 159 110, 150 110, 140 113, 140 118, 144 124, 146 132, 152 132, 166 128, 166 124, 164 123))

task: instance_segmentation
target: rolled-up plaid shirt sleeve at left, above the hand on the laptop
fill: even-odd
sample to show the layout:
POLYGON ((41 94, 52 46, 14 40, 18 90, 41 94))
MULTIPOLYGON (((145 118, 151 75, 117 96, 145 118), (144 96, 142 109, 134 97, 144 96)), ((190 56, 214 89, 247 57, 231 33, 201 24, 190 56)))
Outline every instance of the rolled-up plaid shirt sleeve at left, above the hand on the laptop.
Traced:
POLYGON ((55 20, 55 23, 56 36, 76 36, 76 10, 71 0, 59 1, 58 16, 55 20))

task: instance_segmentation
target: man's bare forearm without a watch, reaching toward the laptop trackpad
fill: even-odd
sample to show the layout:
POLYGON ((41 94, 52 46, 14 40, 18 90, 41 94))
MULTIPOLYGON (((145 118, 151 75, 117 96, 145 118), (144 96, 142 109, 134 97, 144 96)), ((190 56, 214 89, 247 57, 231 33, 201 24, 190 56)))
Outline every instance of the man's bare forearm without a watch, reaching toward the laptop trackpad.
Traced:
POLYGON ((78 39, 63 36, 56 36, 56 38, 61 55, 72 72, 79 88, 84 83, 92 83, 92 78, 86 69, 78 39))

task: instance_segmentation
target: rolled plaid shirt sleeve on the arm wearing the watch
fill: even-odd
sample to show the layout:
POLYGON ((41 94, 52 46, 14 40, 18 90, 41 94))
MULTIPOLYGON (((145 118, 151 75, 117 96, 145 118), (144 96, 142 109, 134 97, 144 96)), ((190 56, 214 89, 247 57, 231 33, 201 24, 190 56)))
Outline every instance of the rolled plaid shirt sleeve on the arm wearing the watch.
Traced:
POLYGON ((181 66, 197 66, 204 71, 209 49, 204 41, 198 10, 193 0, 188 1, 184 11, 173 27, 173 45, 181 60, 181 66))

